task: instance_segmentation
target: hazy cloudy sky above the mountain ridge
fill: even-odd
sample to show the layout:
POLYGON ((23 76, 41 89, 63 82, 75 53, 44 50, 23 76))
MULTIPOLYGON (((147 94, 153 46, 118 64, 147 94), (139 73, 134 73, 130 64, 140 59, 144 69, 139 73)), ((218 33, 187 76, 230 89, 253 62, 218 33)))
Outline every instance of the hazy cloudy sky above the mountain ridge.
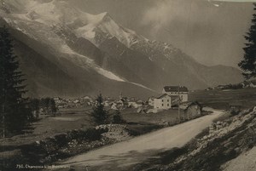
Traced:
MULTIPOLYGON (((233 0, 235 1, 235 0, 233 0)), ((207 66, 236 66, 253 3, 212 0, 72 0, 90 14, 108 12, 121 26, 172 43, 207 66)))

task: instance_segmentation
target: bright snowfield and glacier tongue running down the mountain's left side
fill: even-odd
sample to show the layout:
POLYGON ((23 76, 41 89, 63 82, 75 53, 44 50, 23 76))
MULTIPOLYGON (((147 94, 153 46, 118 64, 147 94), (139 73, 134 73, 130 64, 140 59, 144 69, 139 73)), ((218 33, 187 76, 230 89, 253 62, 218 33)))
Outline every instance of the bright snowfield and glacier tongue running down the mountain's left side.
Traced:
MULTIPOLYGON (((13 14, 13 18, 4 19, 10 26, 15 27, 17 30, 22 31, 29 37, 35 40, 48 44, 49 47, 61 53, 61 58, 72 60, 77 65, 84 68, 91 68, 97 71, 104 77, 113 79, 119 82, 125 82, 124 79, 116 76, 113 72, 104 70, 97 66, 94 60, 90 60, 87 56, 74 52, 63 38, 59 37, 52 30, 51 26, 59 24, 62 19, 67 20, 67 24, 72 22, 72 19, 80 19, 84 22, 96 23, 102 20, 102 14, 90 15, 81 13, 76 10, 69 10, 65 2, 49 1, 47 3, 37 3, 36 1, 26 1, 26 9, 24 14, 13 14), (63 3, 63 4, 62 4, 63 3), (61 8, 57 8, 56 4, 61 4, 61 8), (69 17, 65 17, 65 16, 69 17), (13 19, 13 20, 12 20, 13 19), (29 29, 27 28, 29 26, 29 29)), ((60 57, 60 56, 59 56, 60 57)))

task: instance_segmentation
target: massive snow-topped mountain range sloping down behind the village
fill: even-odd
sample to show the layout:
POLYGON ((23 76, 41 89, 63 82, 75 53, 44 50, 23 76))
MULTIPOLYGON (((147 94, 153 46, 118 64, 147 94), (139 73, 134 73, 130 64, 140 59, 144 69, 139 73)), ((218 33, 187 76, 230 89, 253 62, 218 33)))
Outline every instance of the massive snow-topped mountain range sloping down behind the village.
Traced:
POLYGON ((189 89, 239 83, 241 71, 204 66, 170 43, 148 40, 108 13, 88 14, 63 0, 0 0, 29 95, 148 97, 165 85, 189 89))

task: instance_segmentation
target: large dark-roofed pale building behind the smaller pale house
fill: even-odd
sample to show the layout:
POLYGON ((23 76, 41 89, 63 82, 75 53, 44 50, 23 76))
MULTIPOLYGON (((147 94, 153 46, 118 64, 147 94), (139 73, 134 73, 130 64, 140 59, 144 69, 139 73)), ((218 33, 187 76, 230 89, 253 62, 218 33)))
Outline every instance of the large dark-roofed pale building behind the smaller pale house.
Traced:
POLYGON ((186 87, 181 86, 165 86, 162 94, 168 94, 170 96, 179 96, 181 102, 186 102, 189 99, 189 90, 186 87))

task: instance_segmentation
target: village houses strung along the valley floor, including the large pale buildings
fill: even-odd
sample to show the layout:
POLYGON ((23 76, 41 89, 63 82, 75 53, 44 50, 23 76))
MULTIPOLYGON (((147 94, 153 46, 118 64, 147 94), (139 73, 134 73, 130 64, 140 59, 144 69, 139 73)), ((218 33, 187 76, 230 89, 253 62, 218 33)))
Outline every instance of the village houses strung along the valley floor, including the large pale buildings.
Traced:
MULTIPOLYGON (((188 102, 189 90, 181 86, 166 86, 162 90, 162 94, 157 97, 150 97, 147 101, 137 98, 128 98, 119 95, 119 100, 105 98, 103 105, 113 110, 122 110, 125 108, 137 108, 137 112, 141 113, 157 113, 159 111, 176 108, 179 106, 188 116, 201 115, 202 106, 198 102, 188 102)), ((94 105, 95 100, 90 96, 84 96, 76 100, 62 100, 55 98, 55 102, 59 108, 79 107, 84 105, 94 105)))

